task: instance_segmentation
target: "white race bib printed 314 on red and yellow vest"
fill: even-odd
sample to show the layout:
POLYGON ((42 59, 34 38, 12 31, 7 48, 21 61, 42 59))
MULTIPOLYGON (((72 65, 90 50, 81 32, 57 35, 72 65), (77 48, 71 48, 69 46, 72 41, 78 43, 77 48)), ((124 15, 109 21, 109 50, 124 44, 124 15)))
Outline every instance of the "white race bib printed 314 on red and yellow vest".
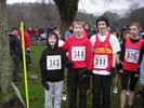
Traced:
POLYGON ((107 68, 107 55, 94 55, 94 68, 106 69, 107 68))

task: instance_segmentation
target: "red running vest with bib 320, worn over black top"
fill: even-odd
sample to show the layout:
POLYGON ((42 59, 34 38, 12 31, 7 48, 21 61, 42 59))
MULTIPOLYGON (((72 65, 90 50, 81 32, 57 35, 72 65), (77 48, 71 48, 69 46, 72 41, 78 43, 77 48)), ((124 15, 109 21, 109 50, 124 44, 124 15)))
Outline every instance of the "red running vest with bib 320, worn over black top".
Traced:
POLYGON ((136 43, 132 43, 130 37, 126 39, 123 70, 138 71, 142 45, 143 39, 140 39, 136 43))

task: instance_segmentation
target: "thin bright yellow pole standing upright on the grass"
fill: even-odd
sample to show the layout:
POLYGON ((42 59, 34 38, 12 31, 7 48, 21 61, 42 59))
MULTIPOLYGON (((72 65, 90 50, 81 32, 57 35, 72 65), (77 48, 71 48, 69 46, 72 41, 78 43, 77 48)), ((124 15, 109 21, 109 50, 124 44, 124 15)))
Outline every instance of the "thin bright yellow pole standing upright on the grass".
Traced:
POLYGON ((29 108, 29 97, 28 97, 28 83, 27 83, 27 71, 26 71, 26 53, 25 53, 25 37, 24 37, 24 23, 21 22, 22 30, 22 48, 23 48, 23 64, 24 64, 24 78, 25 78, 25 92, 26 92, 26 108, 29 108))

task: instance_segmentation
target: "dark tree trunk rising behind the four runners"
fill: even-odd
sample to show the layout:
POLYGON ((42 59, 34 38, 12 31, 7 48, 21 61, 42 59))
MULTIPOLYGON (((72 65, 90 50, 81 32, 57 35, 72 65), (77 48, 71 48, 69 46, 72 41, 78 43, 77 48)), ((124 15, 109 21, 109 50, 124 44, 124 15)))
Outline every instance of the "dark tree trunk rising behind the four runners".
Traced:
POLYGON ((75 19, 79 0, 53 0, 58 9, 62 33, 66 31, 75 19))

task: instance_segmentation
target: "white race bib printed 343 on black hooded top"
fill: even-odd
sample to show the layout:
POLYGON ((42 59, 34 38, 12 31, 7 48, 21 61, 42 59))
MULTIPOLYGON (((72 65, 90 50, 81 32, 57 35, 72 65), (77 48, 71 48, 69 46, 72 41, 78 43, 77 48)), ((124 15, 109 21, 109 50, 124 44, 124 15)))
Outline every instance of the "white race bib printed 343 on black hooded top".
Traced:
POLYGON ((47 70, 62 69, 61 56, 51 55, 47 56, 47 70))

